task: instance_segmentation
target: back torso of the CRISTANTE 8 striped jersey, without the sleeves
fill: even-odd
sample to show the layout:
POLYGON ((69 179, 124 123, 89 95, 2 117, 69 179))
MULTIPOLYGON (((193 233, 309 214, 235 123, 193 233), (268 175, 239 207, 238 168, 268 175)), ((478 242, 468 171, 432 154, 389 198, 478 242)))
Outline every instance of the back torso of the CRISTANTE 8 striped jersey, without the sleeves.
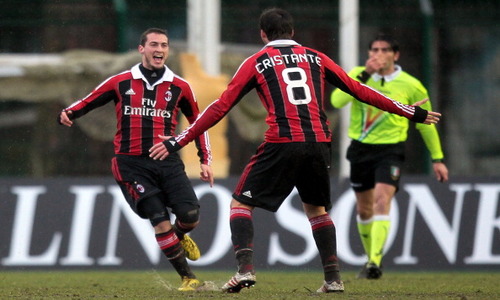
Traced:
POLYGON ((247 61, 253 64, 257 92, 268 110, 266 141, 330 141, 322 59, 319 52, 287 40, 268 44, 247 61))

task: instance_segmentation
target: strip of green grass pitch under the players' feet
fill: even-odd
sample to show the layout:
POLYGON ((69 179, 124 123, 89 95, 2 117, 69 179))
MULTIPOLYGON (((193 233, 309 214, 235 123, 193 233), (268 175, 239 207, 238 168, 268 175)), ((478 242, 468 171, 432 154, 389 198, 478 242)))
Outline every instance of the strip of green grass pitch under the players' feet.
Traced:
POLYGON ((500 299, 500 272, 386 272, 380 280, 343 272, 344 293, 317 294, 319 272, 257 271, 255 287, 220 292, 233 273, 198 271, 206 285, 179 292, 171 271, 3 271, 0 299, 500 299))

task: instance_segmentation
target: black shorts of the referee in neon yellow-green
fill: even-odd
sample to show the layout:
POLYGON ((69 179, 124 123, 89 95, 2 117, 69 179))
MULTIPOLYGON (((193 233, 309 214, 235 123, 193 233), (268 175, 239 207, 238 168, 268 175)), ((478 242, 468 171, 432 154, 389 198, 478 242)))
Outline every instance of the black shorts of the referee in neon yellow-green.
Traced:
POLYGON ((363 192, 379 182, 393 185, 398 190, 404 152, 404 143, 364 144, 352 140, 347 149, 347 159, 351 163, 353 190, 363 192))

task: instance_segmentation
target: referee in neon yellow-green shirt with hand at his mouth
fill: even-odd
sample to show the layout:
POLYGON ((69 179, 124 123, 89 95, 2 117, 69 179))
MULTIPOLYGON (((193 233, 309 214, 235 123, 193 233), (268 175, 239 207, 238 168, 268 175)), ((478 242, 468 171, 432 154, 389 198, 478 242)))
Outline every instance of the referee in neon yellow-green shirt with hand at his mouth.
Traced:
MULTIPOLYGON (((368 47, 365 66, 355 67, 349 76, 404 104, 428 99, 425 87, 396 64, 399 45, 388 35, 378 35, 368 47)), ((390 228, 391 199, 399 188, 401 166, 405 159, 404 142, 408 137, 407 119, 379 110, 336 89, 332 105, 351 105, 347 159, 351 165, 350 181, 356 194, 357 224, 368 261, 358 278, 382 276, 384 244, 390 228)), ((429 101, 421 105, 431 110, 429 101)), ((432 158, 437 180, 448 180, 443 151, 436 126, 416 124, 432 158)))

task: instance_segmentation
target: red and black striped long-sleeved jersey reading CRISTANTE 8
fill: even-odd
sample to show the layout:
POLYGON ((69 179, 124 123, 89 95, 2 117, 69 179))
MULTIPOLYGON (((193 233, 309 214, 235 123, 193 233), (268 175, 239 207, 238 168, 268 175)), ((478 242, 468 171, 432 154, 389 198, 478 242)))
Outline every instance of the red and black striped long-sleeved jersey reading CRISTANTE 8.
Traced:
POLYGON ((293 40, 276 40, 240 65, 220 98, 177 136, 176 141, 181 147, 188 144, 255 88, 268 113, 266 142, 330 142, 331 132, 324 111, 326 83, 360 101, 417 122, 423 122, 427 116, 425 110, 403 105, 351 79, 325 54, 293 40))

